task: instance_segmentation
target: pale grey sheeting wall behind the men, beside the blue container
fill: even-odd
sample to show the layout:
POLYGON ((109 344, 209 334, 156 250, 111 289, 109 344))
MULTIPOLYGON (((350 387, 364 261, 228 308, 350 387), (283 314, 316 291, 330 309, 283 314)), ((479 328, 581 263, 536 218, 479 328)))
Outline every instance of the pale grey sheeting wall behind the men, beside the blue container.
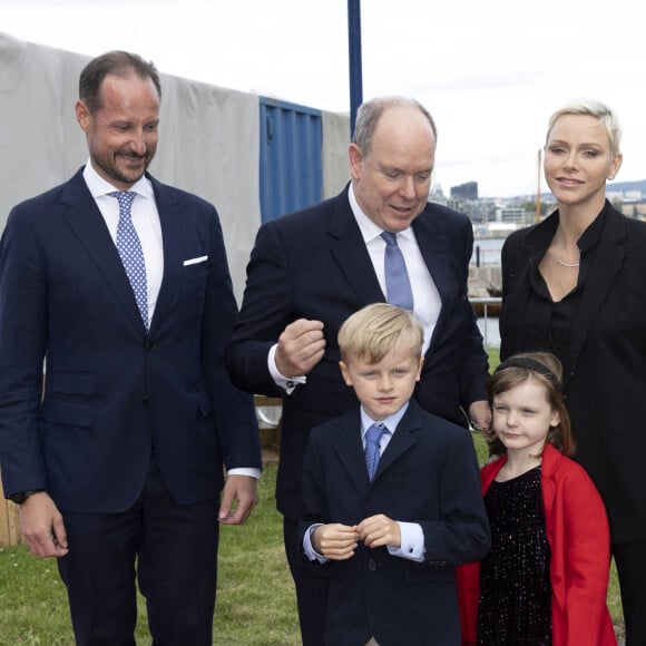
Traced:
MULTIPOLYGON (((0 224, 11 207, 87 161, 74 111, 89 57, 0 32, 0 224)), ((212 202, 238 301, 261 224, 258 97, 161 72, 159 146, 150 172, 212 202)), ((348 115, 322 112, 323 195, 349 179, 348 115)))

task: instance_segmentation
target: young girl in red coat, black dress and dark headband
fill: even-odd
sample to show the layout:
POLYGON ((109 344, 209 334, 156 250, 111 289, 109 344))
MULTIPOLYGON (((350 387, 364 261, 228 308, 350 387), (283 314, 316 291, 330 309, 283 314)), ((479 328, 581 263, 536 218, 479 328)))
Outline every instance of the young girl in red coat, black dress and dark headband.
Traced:
POLYGON ((610 546, 601 498, 570 460, 562 370, 516 354, 488 384, 492 453, 481 471, 491 550, 459 571, 462 644, 609 646, 610 546))

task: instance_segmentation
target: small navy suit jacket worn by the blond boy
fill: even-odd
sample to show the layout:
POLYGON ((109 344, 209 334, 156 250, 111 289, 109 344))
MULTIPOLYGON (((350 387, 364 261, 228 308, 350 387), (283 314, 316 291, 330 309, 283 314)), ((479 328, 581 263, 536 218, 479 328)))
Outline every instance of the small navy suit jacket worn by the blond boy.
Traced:
POLYGON ((418 522, 424 532, 421 564, 360 545, 327 568, 325 643, 382 646, 459 644, 456 565, 489 549, 480 472, 469 432, 411 401, 372 482, 361 442, 359 409, 312 431, 303 468, 305 513, 312 523, 355 525, 375 513, 418 522))

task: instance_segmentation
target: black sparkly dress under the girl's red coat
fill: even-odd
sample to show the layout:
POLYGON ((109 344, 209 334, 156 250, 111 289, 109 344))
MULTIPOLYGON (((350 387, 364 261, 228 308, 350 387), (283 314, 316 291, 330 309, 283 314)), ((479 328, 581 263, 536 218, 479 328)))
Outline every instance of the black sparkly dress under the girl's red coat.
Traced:
POLYGON ((540 467, 491 482, 484 496, 491 550, 480 564, 478 644, 550 646, 550 549, 540 467))

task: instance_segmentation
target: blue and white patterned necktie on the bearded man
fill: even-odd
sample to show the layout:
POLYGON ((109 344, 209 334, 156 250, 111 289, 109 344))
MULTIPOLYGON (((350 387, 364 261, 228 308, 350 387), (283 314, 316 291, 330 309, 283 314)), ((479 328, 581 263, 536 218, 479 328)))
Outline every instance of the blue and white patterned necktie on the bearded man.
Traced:
POLYGON ((110 193, 119 202, 119 224, 117 226, 117 251, 124 263, 126 275, 141 314, 146 330, 148 329, 148 288, 146 285, 146 264, 139 236, 133 225, 133 202, 136 193, 131 190, 115 190, 110 193))

